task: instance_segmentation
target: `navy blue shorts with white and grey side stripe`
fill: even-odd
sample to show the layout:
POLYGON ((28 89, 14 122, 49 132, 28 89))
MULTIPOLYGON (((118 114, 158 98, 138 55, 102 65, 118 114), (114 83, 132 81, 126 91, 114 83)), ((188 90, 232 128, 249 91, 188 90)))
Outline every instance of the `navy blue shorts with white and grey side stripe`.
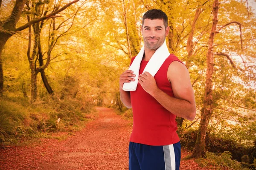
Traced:
POLYGON ((180 142, 150 146, 130 142, 129 170, 179 170, 180 142))

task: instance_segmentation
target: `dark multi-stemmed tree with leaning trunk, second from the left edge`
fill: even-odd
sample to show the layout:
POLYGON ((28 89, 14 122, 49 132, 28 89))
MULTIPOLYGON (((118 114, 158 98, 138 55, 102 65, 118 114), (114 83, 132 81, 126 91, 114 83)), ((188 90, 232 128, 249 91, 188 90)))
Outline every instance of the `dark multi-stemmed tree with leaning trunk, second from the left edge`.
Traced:
MULTIPOLYGON (((46 16, 47 12, 49 11, 48 7, 46 11, 43 10, 44 4, 49 3, 49 2, 38 2, 35 4, 30 4, 29 1, 26 2, 26 6, 29 9, 27 13, 31 14, 33 19, 36 19, 38 15, 44 15, 46 16), (35 8, 33 8, 35 6, 35 8), (32 11, 35 11, 34 13, 32 11)), ((58 10, 58 6, 54 7, 53 11, 58 10)), ((49 65, 50 59, 51 59, 51 51, 54 46, 55 42, 55 15, 52 16, 52 34, 50 34, 49 40, 50 42, 48 43, 48 51, 47 51, 47 62, 44 65, 44 59, 43 59, 43 52, 42 52, 42 47, 41 47, 41 31, 44 26, 44 20, 32 24, 33 27, 33 35, 34 35, 34 46, 32 50, 32 55, 30 55, 30 50, 31 50, 31 38, 32 38, 32 29, 31 26, 29 26, 29 44, 28 44, 28 51, 27 51, 27 57, 29 60, 29 67, 31 70, 31 102, 34 102, 37 98, 37 74, 40 72, 41 73, 41 78, 44 82, 44 85, 48 91, 49 94, 52 94, 52 88, 50 87, 45 72, 44 70, 47 68, 49 65), (39 67, 37 66, 37 60, 39 60, 39 67)), ((30 22, 30 15, 27 16, 28 22, 30 22)))

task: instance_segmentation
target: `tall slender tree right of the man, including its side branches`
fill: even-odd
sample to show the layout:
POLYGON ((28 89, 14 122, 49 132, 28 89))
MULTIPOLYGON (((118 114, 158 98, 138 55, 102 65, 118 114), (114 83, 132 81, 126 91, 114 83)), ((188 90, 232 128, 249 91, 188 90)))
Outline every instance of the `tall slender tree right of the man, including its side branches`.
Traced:
MULTIPOLYGON (((199 128, 198 128, 197 140, 196 140, 195 147, 194 147, 194 150, 191 155, 191 157, 195 157, 195 158, 201 158, 205 154, 205 151, 206 151, 205 138, 206 138, 207 127, 209 124, 209 120, 211 119, 211 116, 214 113, 223 115, 223 118, 225 118, 224 114, 227 112, 230 113, 228 116, 235 115, 235 116, 239 116, 240 118, 245 118, 245 119, 246 118, 248 119, 248 117, 249 117, 249 116, 241 116, 241 113, 239 113, 238 110, 234 111, 232 107, 230 108, 230 105, 232 105, 234 108, 244 108, 243 104, 239 102, 239 99, 237 99, 237 95, 236 95, 235 99, 232 99, 233 100, 232 102, 235 102, 236 105, 233 105, 230 103, 229 105, 227 104, 226 106, 224 106, 222 108, 222 103, 223 102, 226 103, 227 101, 229 101, 229 99, 227 99, 226 97, 225 97, 225 99, 222 99, 224 97, 224 94, 218 94, 218 92, 216 93, 216 90, 215 90, 219 86, 217 84, 218 83, 217 79, 219 79, 219 77, 223 77, 223 76, 221 76, 221 74, 223 75, 223 72, 225 71, 224 68, 221 68, 221 74, 219 75, 219 77, 214 76, 214 74, 219 74, 219 72, 220 72, 219 68, 222 67, 221 63, 217 63, 218 65, 215 66, 215 64, 216 64, 215 61, 219 60, 219 59, 216 59, 215 55, 227 57, 227 59, 230 61, 231 66, 234 68, 233 74, 235 74, 236 76, 240 74, 239 77, 247 77, 249 79, 252 79, 252 78, 250 78, 251 75, 255 75, 255 73, 253 74, 253 71, 247 70, 246 67, 244 67, 245 70, 242 69, 240 66, 238 66, 238 68, 236 68, 236 66, 234 65, 234 62, 232 61, 231 57, 228 54, 225 54, 223 52, 214 52, 216 50, 215 48, 217 46, 217 45, 213 45, 214 41, 215 41, 215 34, 219 33, 222 28, 229 26, 230 24, 234 24, 234 23, 239 26, 239 31, 240 31, 239 39, 240 40, 238 42, 241 45, 240 46, 241 48, 239 48, 239 50, 236 50, 236 53, 239 54, 239 51, 243 51, 241 23, 239 23, 237 21, 232 21, 227 24, 224 24, 223 26, 221 26, 220 28, 217 29, 219 5, 220 5, 220 3, 218 2, 218 0, 215 0, 212 5, 213 22, 212 22, 212 29, 211 29, 211 32, 209 35, 207 53, 206 53, 207 72, 206 72, 204 100, 203 100, 203 106, 201 109, 201 120, 200 120, 200 124, 199 124, 199 128), (238 70, 240 70, 241 72, 239 73, 238 70), (247 71, 246 74, 244 74, 245 71, 247 71), (218 112, 218 110, 220 110, 220 109, 221 109, 221 111, 218 112)), ((230 46, 228 46, 228 48, 230 48, 230 46)), ((223 62, 223 60, 222 60, 222 62, 223 62)), ((224 67, 227 67, 227 65, 224 65, 224 67)), ((227 71, 227 72, 229 72, 229 74, 232 75, 232 72, 230 72, 230 71, 227 71)), ((225 76, 227 76, 227 73, 225 76)), ((225 81, 225 82, 227 82, 227 81, 225 81)), ((239 83, 235 83, 232 80, 229 83, 232 84, 233 88, 236 88, 237 86, 239 86, 238 85, 239 83)), ((222 92, 220 92, 220 93, 224 92, 223 86, 224 85, 221 85, 222 92)), ((240 85, 240 91, 244 91, 243 89, 245 89, 245 88, 240 85)), ((245 96, 249 95, 253 91, 253 90, 249 90, 249 89, 247 90, 248 92, 246 93, 245 96)), ((244 99, 245 96, 243 95, 242 98, 244 99)), ((233 94, 230 93, 229 97, 232 98, 233 94)), ((252 101, 253 101, 253 99, 252 99, 252 101)), ((253 107, 254 107, 253 105, 251 105, 251 106, 247 105, 248 109, 253 108, 253 107)))

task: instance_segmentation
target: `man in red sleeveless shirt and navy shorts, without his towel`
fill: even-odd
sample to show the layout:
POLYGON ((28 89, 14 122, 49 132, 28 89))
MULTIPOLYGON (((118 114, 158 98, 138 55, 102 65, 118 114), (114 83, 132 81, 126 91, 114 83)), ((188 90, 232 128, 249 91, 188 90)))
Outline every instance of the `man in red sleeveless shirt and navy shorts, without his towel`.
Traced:
POLYGON ((124 82, 135 80, 133 71, 125 71, 119 79, 121 100, 134 113, 129 170, 179 170, 180 139, 175 118, 195 119, 195 96, 189 72, 177 57, 170 54, 154 77, 142 73, 154 52, 165 42, 169 29, 163 11, 147 11, 141 27, 145 52, 136 91, 122 90, 124 82))

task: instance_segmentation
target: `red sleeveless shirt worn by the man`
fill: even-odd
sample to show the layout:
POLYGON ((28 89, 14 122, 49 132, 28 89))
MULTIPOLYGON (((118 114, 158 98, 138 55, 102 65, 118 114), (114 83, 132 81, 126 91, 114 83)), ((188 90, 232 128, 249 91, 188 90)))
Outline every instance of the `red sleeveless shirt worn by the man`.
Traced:
MULTIPOLYGON (((131 59, 131 63, 134 58, 131 59)), ((167 78, 167 70, 173 61, 181 62, 175 55, 170 54, 154 76, 158 88, 172 97, 174 94, 172 85, 167 78)), ((147 63, 148 61, 141 61, 140 74, 143 74, 147 63)), ((140 83, 138 83, 136 91, 130 91, 130 94, 134 122, 130 142, 161 146, 180 141, 176 133, 176 115, 166 110, 154 97, 144 91, 140 83)))

